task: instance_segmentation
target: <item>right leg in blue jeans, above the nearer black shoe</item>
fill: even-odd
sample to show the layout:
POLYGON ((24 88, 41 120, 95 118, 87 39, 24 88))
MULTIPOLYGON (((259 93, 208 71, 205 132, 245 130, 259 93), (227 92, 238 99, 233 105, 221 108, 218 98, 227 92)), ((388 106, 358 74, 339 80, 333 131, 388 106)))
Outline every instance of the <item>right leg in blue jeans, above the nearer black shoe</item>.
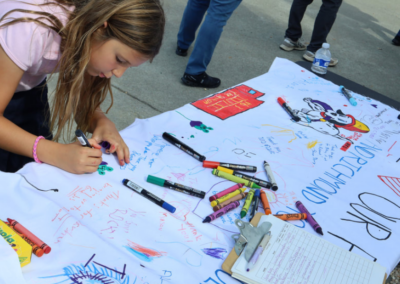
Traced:
POLYGON ((186 74, 200 75, 206 71, 226 22, 241 2, 242 0, 211 0, 186 66, 186 74))

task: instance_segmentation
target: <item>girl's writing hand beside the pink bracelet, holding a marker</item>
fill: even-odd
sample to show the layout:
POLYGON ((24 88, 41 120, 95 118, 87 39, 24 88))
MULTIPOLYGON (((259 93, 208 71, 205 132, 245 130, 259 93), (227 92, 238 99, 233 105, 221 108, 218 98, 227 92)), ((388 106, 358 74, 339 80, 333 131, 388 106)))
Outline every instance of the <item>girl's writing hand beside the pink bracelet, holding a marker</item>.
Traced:
MULTIPOLYGON (((88 140, 93 148, 83 147, 79 141, 71 144, 55 143, 57 147, 57 154, 55 156, 57 158, 54 161, 54 165, 73 174, 85 174, 97 171, 102 162, 101 155, 103 153, 100 150, 101 146, 94 139, 88 140)), ((42 141, 39 142, 39 146, 40 143, 42 141)))

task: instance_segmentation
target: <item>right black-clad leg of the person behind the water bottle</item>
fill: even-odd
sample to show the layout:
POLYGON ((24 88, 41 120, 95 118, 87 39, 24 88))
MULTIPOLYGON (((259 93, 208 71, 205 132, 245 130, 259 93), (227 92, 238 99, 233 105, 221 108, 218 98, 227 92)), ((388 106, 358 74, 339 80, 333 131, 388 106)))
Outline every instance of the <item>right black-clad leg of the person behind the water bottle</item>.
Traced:
POLYGON ((307 46, 308 51, 316 52, 326 42, 340 5, 342 5, 342 0, 322 0, 322 6, 315 19, 311 42, 307 46))

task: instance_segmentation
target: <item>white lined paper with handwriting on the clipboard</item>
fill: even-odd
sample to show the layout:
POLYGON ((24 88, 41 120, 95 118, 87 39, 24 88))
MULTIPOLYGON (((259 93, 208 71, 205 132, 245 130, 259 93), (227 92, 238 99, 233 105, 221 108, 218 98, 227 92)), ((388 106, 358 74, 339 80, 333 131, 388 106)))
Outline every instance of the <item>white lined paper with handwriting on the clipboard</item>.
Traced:
POLYGON ((271 215, 271 240, 250 272, 241 254, 232 276, 265 284, 382 284, 386 269, 271 215))

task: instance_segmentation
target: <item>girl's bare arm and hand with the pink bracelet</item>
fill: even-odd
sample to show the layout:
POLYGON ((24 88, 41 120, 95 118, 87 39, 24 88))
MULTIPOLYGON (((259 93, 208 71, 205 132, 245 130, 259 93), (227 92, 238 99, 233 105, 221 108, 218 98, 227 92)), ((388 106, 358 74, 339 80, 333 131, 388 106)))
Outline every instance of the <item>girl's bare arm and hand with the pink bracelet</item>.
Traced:
MULTIPOLYGON (((37 136, 3 116, 23 74, 24 71, 7 56, 0 45, 0 148, 32 158, 37 136)), ((95 144, 94 141, 92 143, 95 144)), ((45 139, 39 141, 37 155, 42 162, 72 173, 94 172, 101 163, 101 151, 98 149, 84 148, 77 143, 64 145, 45 139)))

